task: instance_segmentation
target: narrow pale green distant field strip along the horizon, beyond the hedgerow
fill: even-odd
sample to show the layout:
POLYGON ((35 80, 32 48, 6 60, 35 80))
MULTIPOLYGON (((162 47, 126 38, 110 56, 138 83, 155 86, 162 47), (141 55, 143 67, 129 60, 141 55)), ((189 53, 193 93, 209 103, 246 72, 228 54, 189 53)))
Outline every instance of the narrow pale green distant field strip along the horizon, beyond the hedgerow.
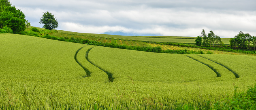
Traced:
MULTIPOLYGON (((175 42, 175 43, 189 43, 194 44, 196 37, 181 37, 181 36, 122 36, 122 35, 108 35, 108 34, 94 34, 94 33, 77 33, 70 31, 58 30, 59 33, 70 35, 89 35, 95 37, 105 37, 114 39, 137 40, 144 42, 175 42)), ((58 34, 57 34, 58 35, 58 34)), ((59 34, 60 35, 60 34, 59 34)), ((229 44, 229 38, 222 38, 224 44, 229 44)))

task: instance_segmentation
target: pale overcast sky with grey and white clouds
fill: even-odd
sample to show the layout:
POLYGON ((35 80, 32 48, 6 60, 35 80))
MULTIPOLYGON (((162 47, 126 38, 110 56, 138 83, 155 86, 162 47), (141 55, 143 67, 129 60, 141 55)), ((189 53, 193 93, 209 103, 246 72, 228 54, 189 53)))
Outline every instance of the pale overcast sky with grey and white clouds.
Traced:
POLYGON ((51 12, 57 29, 82 33, 220 37, 256 35, 256 0, 11 0, 35 27, 51 12))

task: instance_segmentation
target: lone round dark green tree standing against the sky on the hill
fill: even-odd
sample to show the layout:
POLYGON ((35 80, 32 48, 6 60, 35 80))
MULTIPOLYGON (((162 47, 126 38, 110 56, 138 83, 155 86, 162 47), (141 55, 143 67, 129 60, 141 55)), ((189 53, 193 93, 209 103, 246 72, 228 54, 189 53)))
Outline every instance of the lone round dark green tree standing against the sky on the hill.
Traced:
POLYGON ((57 28, 58 21, 55 19, 55 17, 51 14, 51 12, 43 12, 43 17, 41 17, 41 24, 44 24, 43 28, 52 30, 54 28, 57 28))

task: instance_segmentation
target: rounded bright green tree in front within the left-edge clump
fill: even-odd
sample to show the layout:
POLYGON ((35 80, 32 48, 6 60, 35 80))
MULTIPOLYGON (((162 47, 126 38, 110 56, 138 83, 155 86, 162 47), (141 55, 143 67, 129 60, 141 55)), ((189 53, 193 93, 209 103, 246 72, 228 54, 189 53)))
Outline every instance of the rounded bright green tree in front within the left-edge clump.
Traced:
POLYGON ((13 33, 19 34, 26 29, 28 21, 25 18, 23 12, 15 6, 4 7, 0 12, 0 28, 7 26, 13 30, 13 33))

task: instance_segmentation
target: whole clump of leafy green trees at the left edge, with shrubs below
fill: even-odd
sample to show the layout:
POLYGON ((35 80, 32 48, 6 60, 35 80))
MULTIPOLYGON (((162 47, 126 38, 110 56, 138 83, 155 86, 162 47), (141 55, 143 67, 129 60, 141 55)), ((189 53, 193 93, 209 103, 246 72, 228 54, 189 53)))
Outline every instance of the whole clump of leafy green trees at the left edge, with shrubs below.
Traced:
MULTIPOLYGON (((11 33, 19 34, 30 25, 25 15, 15 6, 11 6, 10 0, 0 0, 0 29, 11 28, 11 33)), ((6 33, 10 33, 10 31, 6 33)))

